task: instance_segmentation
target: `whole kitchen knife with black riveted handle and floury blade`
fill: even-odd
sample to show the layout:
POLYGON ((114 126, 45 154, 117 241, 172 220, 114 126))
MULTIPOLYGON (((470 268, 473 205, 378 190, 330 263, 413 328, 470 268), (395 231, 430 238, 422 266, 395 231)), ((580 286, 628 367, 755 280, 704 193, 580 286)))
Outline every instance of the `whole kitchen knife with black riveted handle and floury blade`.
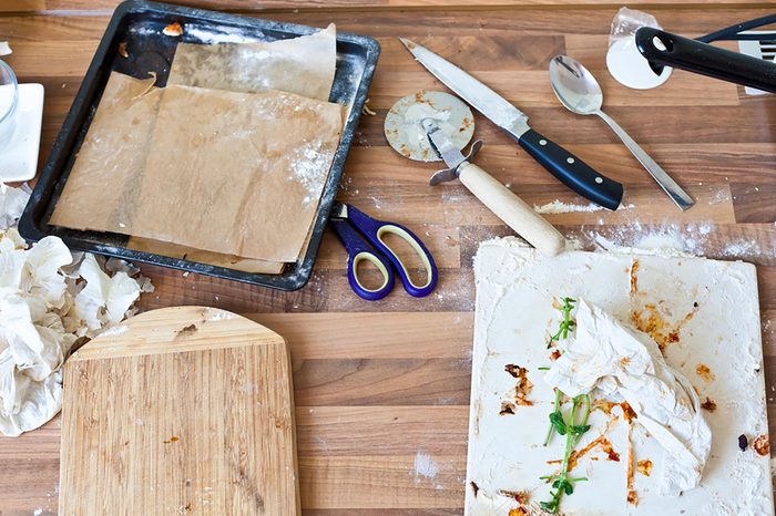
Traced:
POLYGON ((512 136, 537 162, 572 190, 609 209, 617 209, 622 184, 595 172, 582 159, 528 125, 528 116, 501 95, 430 50, 399 38, 415 59, 446 86, 512 136))

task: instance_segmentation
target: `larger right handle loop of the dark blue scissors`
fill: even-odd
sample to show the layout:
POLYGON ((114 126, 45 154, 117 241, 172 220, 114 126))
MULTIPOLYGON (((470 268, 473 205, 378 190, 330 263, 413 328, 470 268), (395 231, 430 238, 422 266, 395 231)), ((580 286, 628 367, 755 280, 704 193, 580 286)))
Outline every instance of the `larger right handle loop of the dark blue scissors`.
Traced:
POLYGON ((428 251, 420 238, 401 225, 377 220, 350 205, 347 206, 347 213, 350 224, 356 226, 356 229, 364 235, 369 244, 375 246, 377 250, 385 255, 385 257, 388 258, 388 261, 390 261, 394 268, 396 268, 405 290, 407 290, 410 296, 422 298, 423 296, 431 293, 437 286, 439 271, 437 270, 437 265, 433 262, 433 257, 428 251), (415 249, 422 260, 423 267, 426 267, 425 285, 415 285, 412 282, 407 268, 401 262, 399 257, 385 244, 385 241, 382 241, 382 236, 386 234, 394 234, 402 238, 412 247, 412 249, 415 249))

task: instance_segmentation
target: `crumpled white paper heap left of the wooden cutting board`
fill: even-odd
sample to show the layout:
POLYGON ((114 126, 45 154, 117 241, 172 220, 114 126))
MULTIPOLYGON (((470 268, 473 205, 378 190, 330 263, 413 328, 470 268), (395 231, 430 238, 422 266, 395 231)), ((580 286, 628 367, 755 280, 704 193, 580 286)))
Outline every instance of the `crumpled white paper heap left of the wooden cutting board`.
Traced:
POLYGON ((73 345, 118 324, 153 290, 134 266, 73 255, 58 237, 28 248, 13 225, 29 196, 0 185, 0 432, 9 436, 57 415, 73 345))

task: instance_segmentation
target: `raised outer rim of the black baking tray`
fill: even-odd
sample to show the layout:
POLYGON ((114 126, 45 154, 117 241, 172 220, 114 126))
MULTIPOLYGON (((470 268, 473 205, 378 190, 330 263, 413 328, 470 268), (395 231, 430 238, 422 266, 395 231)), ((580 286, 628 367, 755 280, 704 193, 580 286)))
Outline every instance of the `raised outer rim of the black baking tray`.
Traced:
MULTIPOLYGON (((24 239, 39 241, 47 236, 54 235, 53 231, 47 231, 44 229, 44 227, 50 227, 48 224, 43 224, 44 211, 52 202, 52 197, 54 195, 53 190, 64 173, 64 162, 68 161, 70 154, 72 154, 74 151, 75 145, 80 143, 78 142, 78 134, 82 131, 86 121, 91 123, 89 110, 92 105, 94 96, 96 95, 95 89, 98 89, 101 75, 112 71, 112 69, 108 72, 104 71, 104 66, 110 60, 108 52, 110 51, 113 40, 124 19, 131 14, 142 14, 147 12, 155 12, 157 14, 166 14, 171 17, 178 14, 181 17, 196 18, 205 21, 214 21, 216 23, 222 22, 223 24, 228 22, 228 25, 231 27, 237 25, 247 29, 273 30, 294 35, 307 35, 320 30, 315 27, 298 23, 279 22, 262 18, 237 16, 144 0, 125 0, 124 2, 120 3, 114 10, 105 32, 100 40, 79 91, 75 94, 73 103, 62 123, 62 127, 54 140, 51 153, 49 154, 41 174, 37 179, 37 184, 33 188, 30 200, 19 219, 18 229, 24 239), (83 122, 76 124, 78 118, 81 116, 84 117, 83 122), (69 141, 71 142, 70 145, 68 145, 69 141), (45 202, 43 202, 44 198, 45 202)), ((192 271, 216 278, 268 287, 277 290, 288 291, 303 288, 309 281, 313 272, 313 266, 323 240, 328 216, 339 187, 339 180, 344 172, 345 161, 350 151, 355 132, 358 128, 361 109, 366 102, 369 85, 375 72, 375 66, 380 54, 379 43, 376 39, 369 35, 337 31, 337 42, 350 43, 363 49, 364 71, 361 73, 358 87, 354 93, 350 113, 348 114, 348 120, 343 127, 343 135, 335 153, 326 184, 324 185, 318 210, 314 219, 313 233, 307 251, 305 252, 303 259, 294 265, 292 270, 280 275, 245 272, 236 269, 229 269, 227 267, 212 266, 186 259, 136 251, 125 247, 116 247, 115 245, 88 241, 69 236, 55 236, 62 238, 68 247, 74 250, 113 256, 126 260, 192 271)), ((96 105, 99 105, 99 102, 96 105)), ((68 174, 69 173, 70 171, 68 171, 68 174)))

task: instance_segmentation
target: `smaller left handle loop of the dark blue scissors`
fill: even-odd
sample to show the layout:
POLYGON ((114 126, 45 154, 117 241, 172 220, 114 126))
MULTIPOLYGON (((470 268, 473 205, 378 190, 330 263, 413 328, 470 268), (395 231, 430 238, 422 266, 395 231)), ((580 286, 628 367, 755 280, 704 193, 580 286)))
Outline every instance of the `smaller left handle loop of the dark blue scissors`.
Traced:
POLYGON ((348 254, 348 282, 353 291, 367 301, 377 301, 388 296, 388 292, 394 290, 394 283, 396 282, 390 264, 371 250, 347 219, 330 218, 329 224, 348 254), (370 261, 382 274, 382 285, 377 289, 366 288, 358 279, 358 264, 361 260, 370 261))

